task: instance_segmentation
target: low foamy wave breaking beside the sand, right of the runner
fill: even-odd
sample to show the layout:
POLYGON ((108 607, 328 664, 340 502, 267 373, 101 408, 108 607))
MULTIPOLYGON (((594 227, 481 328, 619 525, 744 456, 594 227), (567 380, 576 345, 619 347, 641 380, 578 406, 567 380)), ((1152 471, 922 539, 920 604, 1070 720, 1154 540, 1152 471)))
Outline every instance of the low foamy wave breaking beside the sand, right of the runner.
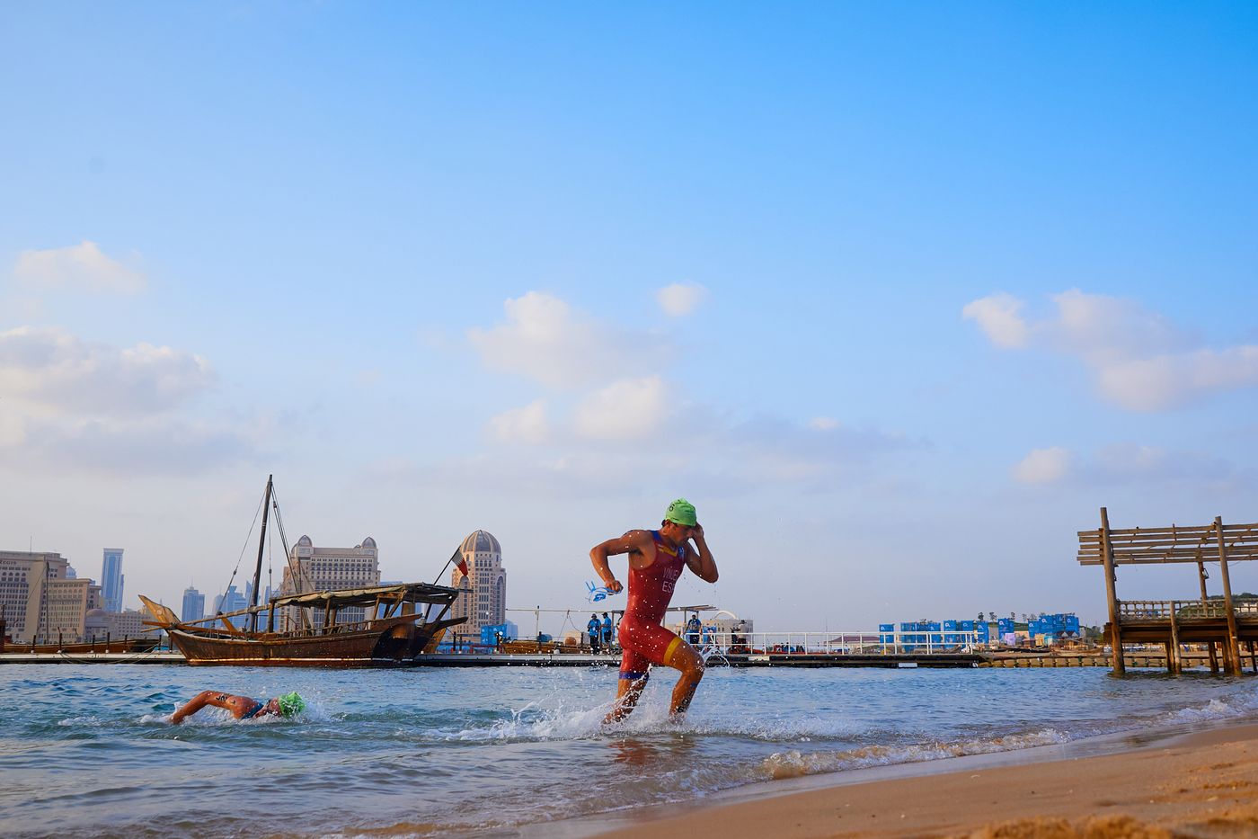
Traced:
POLYGON ((945 757, 964 757, 965 755, 990 755, 1011 752, 1037 746, 1053 746, 1069 742, 1069 736, 1054 729, 1027 734, 1006 734, 982 739, 960 742, 932 742, 915 746, 866 746, 863 748, 839 752, 775 752, 761 762, 761 770, 772 780, 842 772, 844 770, 867 768, 871 766, 893 766, 897 763, 918 763, 942 760, 945 757))

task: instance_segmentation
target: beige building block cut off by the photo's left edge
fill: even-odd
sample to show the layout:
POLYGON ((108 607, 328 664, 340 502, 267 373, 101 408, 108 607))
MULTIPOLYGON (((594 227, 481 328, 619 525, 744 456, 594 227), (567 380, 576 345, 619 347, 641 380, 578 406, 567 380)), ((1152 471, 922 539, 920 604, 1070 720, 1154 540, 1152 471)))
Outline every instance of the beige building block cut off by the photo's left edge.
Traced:
POLYGON ((83 637, 94 586, 72 572, 59 553, 0 551, 0 606, 14 641, 83 637))

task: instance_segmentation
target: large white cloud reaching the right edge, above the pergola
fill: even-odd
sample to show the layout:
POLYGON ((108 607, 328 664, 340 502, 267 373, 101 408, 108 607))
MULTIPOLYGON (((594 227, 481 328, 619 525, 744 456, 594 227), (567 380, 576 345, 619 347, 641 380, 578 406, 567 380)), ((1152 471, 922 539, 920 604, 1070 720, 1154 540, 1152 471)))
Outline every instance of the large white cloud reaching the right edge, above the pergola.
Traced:
POLYGON ((993 295, 965 306, 996 346, 1037 344, 1083 362, 1098 394, 1128 411, 1165 411, 1215 393, 1258 387, 1258 345, 1199 346, 1138 302, 1077 288, 1053 296, 1052 317, 1027 322, 1023 301, 993 295))

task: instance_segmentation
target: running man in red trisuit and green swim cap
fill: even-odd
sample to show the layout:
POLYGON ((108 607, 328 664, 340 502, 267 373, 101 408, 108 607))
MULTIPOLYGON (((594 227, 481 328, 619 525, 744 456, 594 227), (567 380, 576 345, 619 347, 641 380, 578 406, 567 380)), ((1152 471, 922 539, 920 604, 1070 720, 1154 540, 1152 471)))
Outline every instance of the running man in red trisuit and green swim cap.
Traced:
POLYGON ((608 591, 621 590, 611 573, 608 557, 629 554, 629 602, 620 619, 620 682, 616 702, 604 722, 624 719, 638 704, 649 678, 652 664, 663 664, 682 671, 673 688, 669 713, 686 713, 694 698, 694 689, 703 678, 703 659, 698 651, 663 626, 664 611, 673 598, 673 587, 689 567, 703 581, 716 582, 716 561, 703 539, 703 527, 694 515, 694 505, 679 498, 668 505, 658 530, 630 530, 618 539, 608 539, 590 549, 590 562, 608 591), (688 540, 694 540, 694 547, 688 540))

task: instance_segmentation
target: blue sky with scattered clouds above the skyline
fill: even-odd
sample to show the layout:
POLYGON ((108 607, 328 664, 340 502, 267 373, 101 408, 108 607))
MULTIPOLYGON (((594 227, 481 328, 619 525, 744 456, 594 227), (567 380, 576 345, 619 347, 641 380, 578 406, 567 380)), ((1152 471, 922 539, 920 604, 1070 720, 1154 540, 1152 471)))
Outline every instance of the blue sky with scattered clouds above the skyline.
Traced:
POLYGON ((0 5, 0 549, 209 600, 274 474, 579 619, 686 496, 757 630, 1099 622, 1101 506, 1258 520, 1254 89, 1252 4, 0 5))

